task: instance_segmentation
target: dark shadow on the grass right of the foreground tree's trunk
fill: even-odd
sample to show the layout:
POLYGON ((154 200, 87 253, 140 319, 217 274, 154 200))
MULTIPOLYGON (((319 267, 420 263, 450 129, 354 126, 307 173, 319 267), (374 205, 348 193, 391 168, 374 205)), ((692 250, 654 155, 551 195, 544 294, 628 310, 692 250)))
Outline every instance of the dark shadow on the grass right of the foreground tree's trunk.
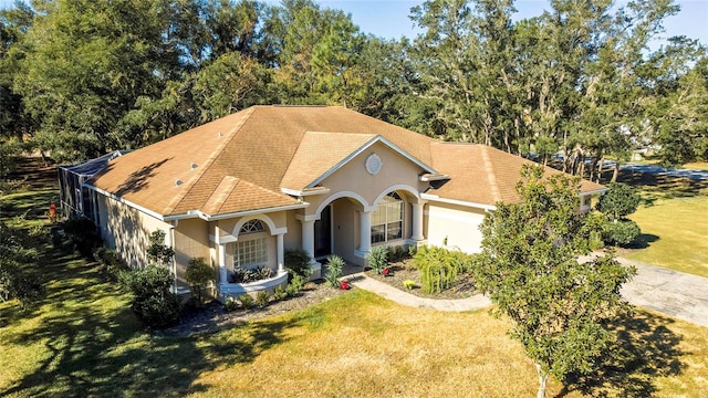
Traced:
POLYGON ((681 373, 681 339, 667 325, 673 320, 637 310, 613 327, 618 341, 610 358, 595 374, 569 377, 558 395, 577 390, 590 396, 650 397, 655 379, 681 373))

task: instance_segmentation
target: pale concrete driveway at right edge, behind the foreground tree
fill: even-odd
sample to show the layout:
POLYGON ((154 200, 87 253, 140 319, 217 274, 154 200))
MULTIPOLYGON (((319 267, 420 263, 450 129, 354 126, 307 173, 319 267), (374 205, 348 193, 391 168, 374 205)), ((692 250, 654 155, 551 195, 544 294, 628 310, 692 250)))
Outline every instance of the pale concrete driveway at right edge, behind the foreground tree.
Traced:
POLYGON ((708 279, 617 258, 637 268, 637 275, 622 287, 632 304, 708 327, 708 279))

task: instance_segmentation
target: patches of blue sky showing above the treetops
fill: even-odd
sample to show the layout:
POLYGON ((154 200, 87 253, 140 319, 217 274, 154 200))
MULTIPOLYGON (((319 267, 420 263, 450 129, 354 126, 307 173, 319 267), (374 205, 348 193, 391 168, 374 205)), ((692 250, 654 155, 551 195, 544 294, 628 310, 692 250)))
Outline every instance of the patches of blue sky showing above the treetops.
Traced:
MULTIPOLYGON (((649 0, 650 1, 650 0, 649 0)), ((268 0, 268 2, 279 2, 268 0)), ((352 20, 364 33, 386 39, 402 35, 414 38, 416 30, 408 18, 410 8, 423 1, 410 0, 324 0, 322 7, 340 9, 352 15, 352 20)), ((618 2, 622 2, 620 0, 618 2)), ((675 0, 681 7, 678 14, 664 21, 666 38, 686 35, 708 45, 708 0, 675 0)), ((0 9, 12 7, 14 0, 0 0, 0 9)), ((548 8, 549 0, 517 0, 517 19, 539 15, 548 8)), ((660 42, 658 43, 660 44, 660 42)))

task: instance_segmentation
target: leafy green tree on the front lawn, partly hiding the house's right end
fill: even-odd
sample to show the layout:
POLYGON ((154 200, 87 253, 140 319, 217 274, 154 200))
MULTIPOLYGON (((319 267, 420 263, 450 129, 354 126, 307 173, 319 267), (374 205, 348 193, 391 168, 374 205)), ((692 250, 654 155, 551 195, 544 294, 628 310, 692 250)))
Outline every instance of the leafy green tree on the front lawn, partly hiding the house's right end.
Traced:
POLYGON ((612 252, 580 263, 595 229, 580 213, 579 178, 545 176, 524 166, 520 203, 497 203, 481 224, 482 252, 476 276, 481 292, 511 318, 511 336, 539 376, 538 396, 550 375, 590 373, 615 335, 607 323, 629 310, 620 287, 634 274, 612 252))

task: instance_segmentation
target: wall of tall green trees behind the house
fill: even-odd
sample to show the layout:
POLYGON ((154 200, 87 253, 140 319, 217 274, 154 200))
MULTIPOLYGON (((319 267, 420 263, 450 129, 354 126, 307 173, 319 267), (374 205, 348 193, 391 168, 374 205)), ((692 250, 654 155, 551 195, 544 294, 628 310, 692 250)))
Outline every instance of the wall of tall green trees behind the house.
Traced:
POLYGON ((73 161, 254 104, 325 104, 563 154, 589 178, 637 148, 679 165, 708 156, 708 60, 688 38, 649 48, 677 11, 558 0, 516 20, 513 0, 428 0, 417 38, 384 40, 312 0, 18 1, 0 11, 0 140, 73 161))

